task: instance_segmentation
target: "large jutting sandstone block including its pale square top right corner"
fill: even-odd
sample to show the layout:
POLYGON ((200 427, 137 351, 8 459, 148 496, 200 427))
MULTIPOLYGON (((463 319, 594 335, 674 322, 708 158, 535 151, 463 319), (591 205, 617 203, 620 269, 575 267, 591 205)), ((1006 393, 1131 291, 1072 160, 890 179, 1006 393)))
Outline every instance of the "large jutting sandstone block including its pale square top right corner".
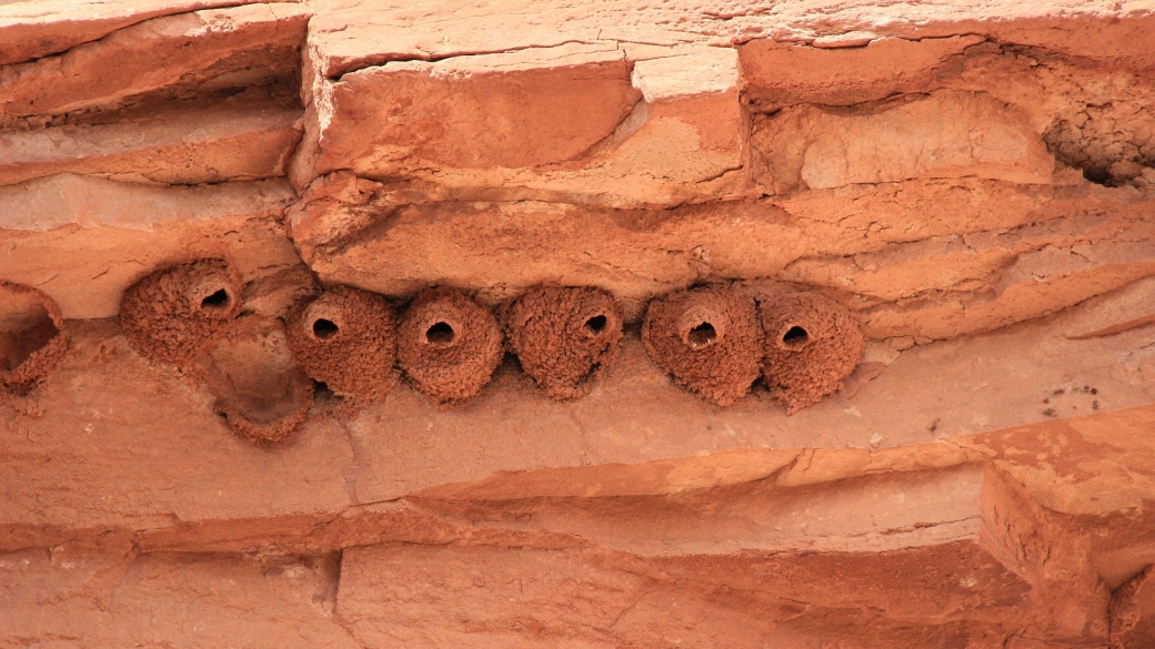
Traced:
POLYGON ((319 80, 295 184, 349 169, 486 200, 666 206, 743 193, 737 55, 661 54, 632 76, 617 50, 565 45, 319 80))

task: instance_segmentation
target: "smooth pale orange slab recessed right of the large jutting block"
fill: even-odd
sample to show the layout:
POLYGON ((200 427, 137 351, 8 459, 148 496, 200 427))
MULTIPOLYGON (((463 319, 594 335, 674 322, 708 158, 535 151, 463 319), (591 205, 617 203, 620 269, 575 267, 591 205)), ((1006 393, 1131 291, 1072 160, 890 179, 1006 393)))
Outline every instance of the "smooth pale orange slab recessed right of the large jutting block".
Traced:
POLYGON ((775 194, 969 176, 1041 184, 1055 167, 1024 115, 978 92, 784 109, 755 120, 751 137, 755 178, 775 194))

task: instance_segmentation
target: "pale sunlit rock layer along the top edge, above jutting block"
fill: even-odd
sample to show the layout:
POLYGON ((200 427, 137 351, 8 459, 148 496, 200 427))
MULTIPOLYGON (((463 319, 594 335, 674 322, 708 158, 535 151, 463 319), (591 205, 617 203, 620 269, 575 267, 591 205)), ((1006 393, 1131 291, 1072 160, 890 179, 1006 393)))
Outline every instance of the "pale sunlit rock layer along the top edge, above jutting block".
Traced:
POLYGON ((818 47, 866 45, 879 37, 982 35, 1044 46, 1066 55, 1115 65, 1155 64, 1147 50, 1155 22, 1141 2, 1080 2, 1059 14, 1050 5, 949 1, 917 6, 805 0, 789 5, 664 2, 639 6, 613 0, 596 7, 561 2, 395 3, 388 0, 314 0, 311 40, 320 73, 344 73, 392 60, 431 60, 568 42, 612 39, 624 44, 732 45, 753 38, 818 47), (1063 29, 1056 29, 1060 27, 1063 29), (1079 36, 1087 30, 1094 39, 1079 36))

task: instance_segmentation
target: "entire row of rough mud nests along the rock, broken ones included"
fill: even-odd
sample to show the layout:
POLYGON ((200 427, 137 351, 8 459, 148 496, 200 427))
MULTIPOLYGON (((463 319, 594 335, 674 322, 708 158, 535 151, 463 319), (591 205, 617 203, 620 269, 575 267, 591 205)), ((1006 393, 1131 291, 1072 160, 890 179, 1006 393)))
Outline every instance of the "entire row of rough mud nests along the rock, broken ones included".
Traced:
MULTIPOLYGON (((478 394, 506 351, 546 395, 586 395, 618 355, 621 314, 588 286, 542 286, 504 305, 499 319, 464 293, 425 290, 400 316, 382 296, 331 286, 281 319, 244 309, 228 262, 158 270, 129 288, 120 320, 146 356, 176 365, 216 397, 216 411, 258 443, 289 439, 320 382, 350 403, 386 397, 404 372, 434 403, 478 394), (398 372, 400 368, 400 372, 398 372)), ((793 413, 842 387, 863 352, 854 316, 813 293, 757 305, 725 288, 654 299, 641 340, 675 381, 718 405, 761 375, 793 413)), ((67 349, 60 309, 39 291, 0 282, 0 387, 25 390, 67 349)))

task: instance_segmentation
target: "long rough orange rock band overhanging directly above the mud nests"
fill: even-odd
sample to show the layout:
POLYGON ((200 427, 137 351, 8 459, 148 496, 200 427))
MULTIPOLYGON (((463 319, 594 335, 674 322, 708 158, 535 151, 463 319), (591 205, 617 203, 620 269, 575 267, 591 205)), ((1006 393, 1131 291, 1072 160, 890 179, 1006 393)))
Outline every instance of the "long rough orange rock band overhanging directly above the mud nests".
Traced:
POLYGON ((1052 313, 1153 273, 1142 245, 1152 200, 1090 184, 1016 191, 925 180, 610 211, 426 203, 420 191, 345 178, 290 211, 293 238, 323 281, 398 297, 437 282, 490 301, 543 282, 586 283, 614 293, 638 321, 644 301, 669 290, 765 278, 847 291, 871 337, 939 340, 1052 313), (944 219, 919 218, 941 200, 954 208, 944 219), (1089 256, 1037 279, 1014 270, 1019 255, 1027 263, 1045 246, 1089 256))

